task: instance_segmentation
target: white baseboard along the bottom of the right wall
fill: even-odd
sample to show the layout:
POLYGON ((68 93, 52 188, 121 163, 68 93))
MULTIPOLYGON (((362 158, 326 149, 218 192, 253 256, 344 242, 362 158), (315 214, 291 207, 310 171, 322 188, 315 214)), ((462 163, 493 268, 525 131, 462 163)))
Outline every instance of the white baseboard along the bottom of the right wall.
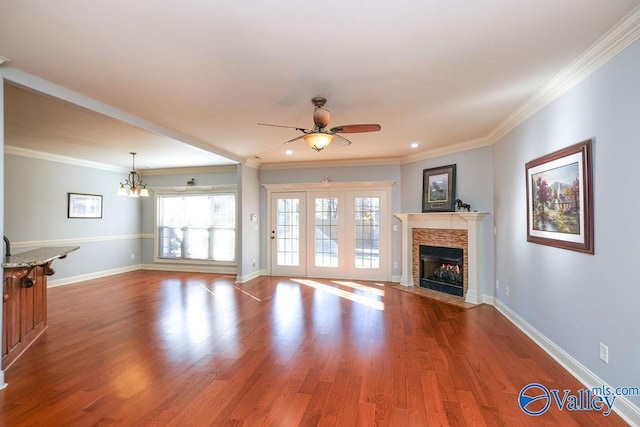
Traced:
MULTIPOLYGON (((488 295, 485 295, 485 297, 489 300, 488 295)), ((515 311, 503 304, 502 301, 493 297, 490 299, 492 302, 487 302, 487 304, 492 304, 500 313, 502 313, 503 316, 531 338, 541 349, 547 352, 549 356, 569 371, 569 373, 580 381, 586 388, 591 389, 594 387, 609 386, 600 377, 587 369, 582 363, 578 362, 569 353, 558 347, 558 345, 553 341, 520 317, 515 311)), ((618 396, 616 398, 613 411, 630 425, 640 425, 640 408, 631 403, 626 397, 618 396)))

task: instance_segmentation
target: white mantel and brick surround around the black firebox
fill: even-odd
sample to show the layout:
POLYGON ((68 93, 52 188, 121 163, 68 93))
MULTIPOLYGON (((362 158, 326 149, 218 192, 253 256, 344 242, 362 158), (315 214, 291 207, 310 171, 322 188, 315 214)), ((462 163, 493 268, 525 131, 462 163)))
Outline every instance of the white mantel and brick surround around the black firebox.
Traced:
POLYGON ((402 221, 402 276, 400 285, 420 286, 420 245, 460 248, 464 251, 465 302, 479 304, 478 223, 488 212, 395 214, 402 221))

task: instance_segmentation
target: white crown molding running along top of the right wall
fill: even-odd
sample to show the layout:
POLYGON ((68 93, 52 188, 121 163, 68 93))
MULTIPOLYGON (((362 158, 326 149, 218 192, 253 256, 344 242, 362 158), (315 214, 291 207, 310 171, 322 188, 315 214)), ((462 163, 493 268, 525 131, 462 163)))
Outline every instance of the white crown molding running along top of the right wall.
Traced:
POLYGON ((633 9, 549 83, 521 104, 487 137, 494 144, 640 38, 640 6, 633 9))

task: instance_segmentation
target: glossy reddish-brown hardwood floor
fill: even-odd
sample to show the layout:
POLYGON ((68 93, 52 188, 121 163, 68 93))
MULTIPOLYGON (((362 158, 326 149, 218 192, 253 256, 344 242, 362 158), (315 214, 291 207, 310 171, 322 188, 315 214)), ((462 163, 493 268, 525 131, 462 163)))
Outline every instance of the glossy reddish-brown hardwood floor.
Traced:
POLYGON ((493 307, 391 284, 136 271, 49 289, 3 426, 624 425, 518 406, 582 385, 493 307))

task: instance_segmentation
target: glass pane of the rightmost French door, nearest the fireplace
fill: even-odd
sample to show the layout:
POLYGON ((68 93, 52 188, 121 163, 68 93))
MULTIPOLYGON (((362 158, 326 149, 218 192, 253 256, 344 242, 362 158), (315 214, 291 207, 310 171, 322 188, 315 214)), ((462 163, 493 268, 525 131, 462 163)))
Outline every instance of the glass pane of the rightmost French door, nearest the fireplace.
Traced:
POLYGON ((380 268, 380 198, 355 198, 355 267, 380 268))

